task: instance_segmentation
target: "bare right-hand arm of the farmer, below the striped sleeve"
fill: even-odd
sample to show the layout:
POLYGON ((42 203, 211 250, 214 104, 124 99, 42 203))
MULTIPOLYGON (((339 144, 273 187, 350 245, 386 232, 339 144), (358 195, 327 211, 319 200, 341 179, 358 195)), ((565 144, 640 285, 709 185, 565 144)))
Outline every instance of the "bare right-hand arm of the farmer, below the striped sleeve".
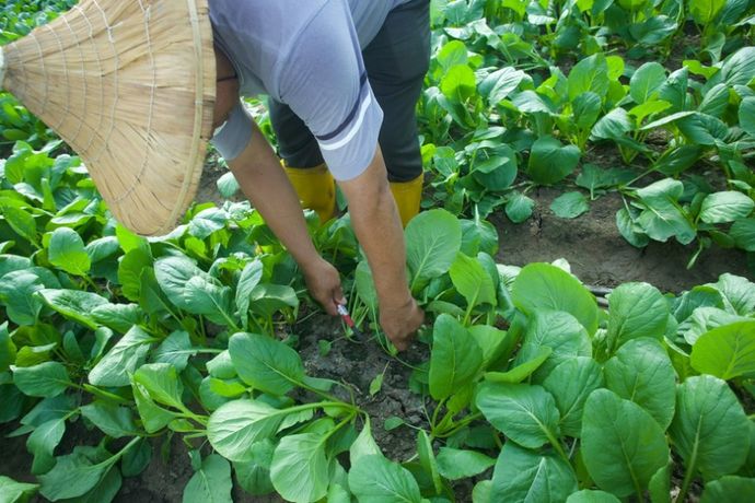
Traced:
POLYGON ((349 201, 351 222, 370 262, 380 324, 396 348, 406 349, 425 315, 407 285, 404 231, 380 148, 364 173, 338 185, 349 201))

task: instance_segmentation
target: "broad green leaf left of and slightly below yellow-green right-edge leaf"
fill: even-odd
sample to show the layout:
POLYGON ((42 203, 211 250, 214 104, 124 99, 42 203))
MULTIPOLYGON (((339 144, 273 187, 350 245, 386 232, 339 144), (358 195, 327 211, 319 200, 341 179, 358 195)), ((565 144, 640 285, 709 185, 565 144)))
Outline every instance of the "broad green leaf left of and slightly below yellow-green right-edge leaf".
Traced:
POLYGON ((655 339, 632 339, 605 364, 606 387, 647 410, 665 431, 674 418, 676 374, 655 339))

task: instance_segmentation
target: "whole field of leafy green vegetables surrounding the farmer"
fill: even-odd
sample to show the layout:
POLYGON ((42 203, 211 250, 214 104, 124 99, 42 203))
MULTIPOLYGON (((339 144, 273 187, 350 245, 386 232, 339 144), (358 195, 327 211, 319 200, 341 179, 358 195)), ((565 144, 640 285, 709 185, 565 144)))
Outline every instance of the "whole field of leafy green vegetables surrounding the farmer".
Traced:
POLYGON ((755 1, 431 5, 405 353, 348 214, 307 222, 364 337, 231 175, 139 237, 0 94, 0 502, 755 501, 755 1), (544 219, 659 265, 583 282, 544 219))

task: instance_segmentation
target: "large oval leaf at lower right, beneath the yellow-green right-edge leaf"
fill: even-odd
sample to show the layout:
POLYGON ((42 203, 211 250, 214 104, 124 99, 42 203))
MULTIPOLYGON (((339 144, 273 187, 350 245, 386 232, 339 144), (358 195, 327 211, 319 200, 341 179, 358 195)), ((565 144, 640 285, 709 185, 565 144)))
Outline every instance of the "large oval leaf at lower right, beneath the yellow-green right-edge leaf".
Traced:
POLYGON ((750 451, 748 420, 727 383, 711 375, 676 387, 676 416, 669 434, 688 472, 706 480, 735 472, 750 451))

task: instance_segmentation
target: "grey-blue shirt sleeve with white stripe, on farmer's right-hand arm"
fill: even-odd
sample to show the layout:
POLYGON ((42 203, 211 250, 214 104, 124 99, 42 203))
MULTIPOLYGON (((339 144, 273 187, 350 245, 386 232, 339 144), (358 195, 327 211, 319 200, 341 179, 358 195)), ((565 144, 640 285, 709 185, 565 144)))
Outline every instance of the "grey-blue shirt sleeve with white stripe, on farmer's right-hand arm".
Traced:
POLYGON ((278 89, 314 134, 338 180, 372 161, 383 120, 362 61, 347 2, 327 2, 280 61, 278 89))

